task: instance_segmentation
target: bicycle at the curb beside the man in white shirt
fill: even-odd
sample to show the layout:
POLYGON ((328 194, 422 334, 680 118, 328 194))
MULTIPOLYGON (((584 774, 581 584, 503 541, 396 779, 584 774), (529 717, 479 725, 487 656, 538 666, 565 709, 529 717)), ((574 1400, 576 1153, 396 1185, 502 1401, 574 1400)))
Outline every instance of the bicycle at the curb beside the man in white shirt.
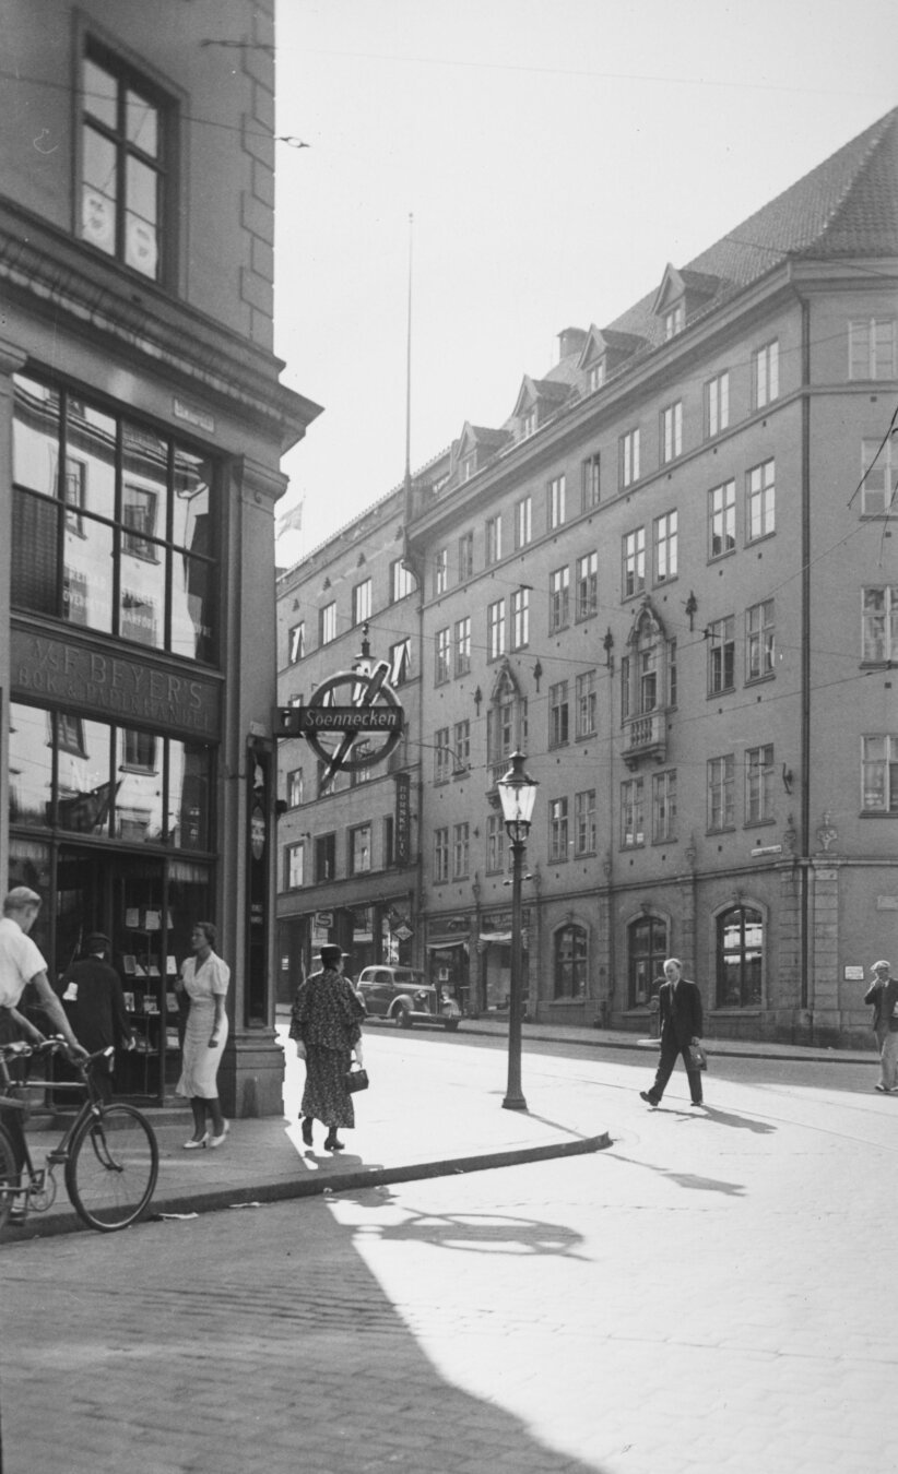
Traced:
MULTIPOLYGON (((0 1045, 0 1107, 4 1111, 19 1111, 24 1120, 28 1101, 22 1098, 22 1091, 66 1088, 46 1079, 16 1083, 9 1073, 13 1060, 31 1055, 49 1058, 60 1049, 65 1049, 63 1039, 44 1039, 35 1045, 0 1045)), ((78 1061, 83 1083, 68 1088, 84 1088, 86 1098, 63 1131, 59 1145, 47 1153, 44 1167, 34 1166, 25 1144, 25 1163, 19 1173, 12 1136, 0 1120, 0 1231, 10 1216, 18 1226, 31 1210, 46 1213, 53 1206, 55 1167, 65 1169, 66 1192, 88 1228, 111 1234, 136 1223, 146 1212, 159 1175, 159 1144, 152 1125, 137 1107, 121 1101, 105 1104, 100 1100, 93 1069, 111 1054, 111 1048, 99 1049, 78 1061)))

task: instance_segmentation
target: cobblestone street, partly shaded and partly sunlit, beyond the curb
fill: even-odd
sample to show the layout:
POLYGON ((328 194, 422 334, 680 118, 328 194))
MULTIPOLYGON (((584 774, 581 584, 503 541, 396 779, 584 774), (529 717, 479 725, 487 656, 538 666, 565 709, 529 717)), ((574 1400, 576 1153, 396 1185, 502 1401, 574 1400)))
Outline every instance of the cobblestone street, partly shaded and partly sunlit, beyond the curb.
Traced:
POLYGON ((4 1247, 4 1474, 898 1470, 898 1101, 820 1066, 649 1111, 646 1064, 526 1058, 593 1156, 4 1247))

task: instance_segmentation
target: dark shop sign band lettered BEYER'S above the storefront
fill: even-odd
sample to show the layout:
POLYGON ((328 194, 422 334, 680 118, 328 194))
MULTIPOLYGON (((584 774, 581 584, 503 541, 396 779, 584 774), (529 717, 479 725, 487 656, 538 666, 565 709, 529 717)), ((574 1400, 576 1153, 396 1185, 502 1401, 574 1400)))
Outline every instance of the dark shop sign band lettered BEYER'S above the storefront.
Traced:
POLYGON ((13 626, 10 668, 13 699, 40 697, 111 721, 152 722, 199 738, 220 736, 218 684, 167 669, 149 652, 130 659, 13 626))

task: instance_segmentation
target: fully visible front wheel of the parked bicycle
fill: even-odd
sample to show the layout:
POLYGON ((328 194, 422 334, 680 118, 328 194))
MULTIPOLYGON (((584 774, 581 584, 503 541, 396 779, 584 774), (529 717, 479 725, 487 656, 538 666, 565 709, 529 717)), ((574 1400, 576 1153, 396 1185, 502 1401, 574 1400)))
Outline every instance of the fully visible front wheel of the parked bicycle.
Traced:
POLYGON ((159 1175, 159 1145, 134 1106, 103 1106, 78 1129, 65 1167, 65 1185, 88 1228, 111 1234, 136 1223, 159 1175))

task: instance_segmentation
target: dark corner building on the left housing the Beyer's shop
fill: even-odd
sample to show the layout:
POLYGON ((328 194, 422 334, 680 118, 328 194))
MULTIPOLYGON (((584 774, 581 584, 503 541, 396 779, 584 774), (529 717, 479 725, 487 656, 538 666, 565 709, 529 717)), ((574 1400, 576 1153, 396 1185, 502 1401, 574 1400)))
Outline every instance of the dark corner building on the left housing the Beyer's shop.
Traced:
POLYGON ((174 977, 215 921, 224 1110, 279 1113, 273 511, 319 411, 271 351, 273 7, 12 9, 0 868, 44 896, 52 977, 112 939, 122 1094, 171 1091, 174 977))

